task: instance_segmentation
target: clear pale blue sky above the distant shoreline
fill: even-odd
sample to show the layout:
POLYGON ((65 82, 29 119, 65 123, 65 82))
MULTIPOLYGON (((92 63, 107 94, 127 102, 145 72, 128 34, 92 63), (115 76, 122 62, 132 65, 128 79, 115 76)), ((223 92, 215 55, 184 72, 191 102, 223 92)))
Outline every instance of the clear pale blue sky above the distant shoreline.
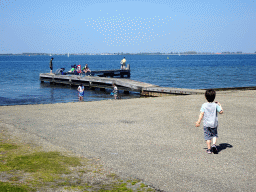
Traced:
POLYGON ((256 51, 256 0, 0 0, 0 54, 256 51))

